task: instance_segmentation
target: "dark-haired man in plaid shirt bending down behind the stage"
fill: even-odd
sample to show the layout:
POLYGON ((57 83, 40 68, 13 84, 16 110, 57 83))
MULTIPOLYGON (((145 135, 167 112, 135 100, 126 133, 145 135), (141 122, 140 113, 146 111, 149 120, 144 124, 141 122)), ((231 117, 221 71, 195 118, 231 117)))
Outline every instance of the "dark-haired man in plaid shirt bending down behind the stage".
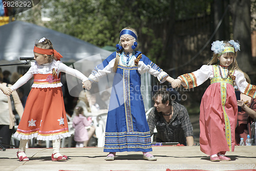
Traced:
POLYGON ((155 109, 148 114, 147 123, 153 135, 157 129, 157 142, 179 142, 183 145, 194 144, 193 127, 184 106, 170 99, 166 90, 157 91, 153 100, 155 109))

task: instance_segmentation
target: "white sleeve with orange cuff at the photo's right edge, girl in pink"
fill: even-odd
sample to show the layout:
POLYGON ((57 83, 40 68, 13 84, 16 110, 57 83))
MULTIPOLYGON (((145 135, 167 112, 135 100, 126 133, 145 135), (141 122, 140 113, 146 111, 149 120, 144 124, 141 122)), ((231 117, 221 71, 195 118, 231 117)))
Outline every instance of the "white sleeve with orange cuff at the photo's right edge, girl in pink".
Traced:
POLYGON ((234 76, 236 76, 236 80, 234 80, 234 82, 238 86, 239 91, 255 99, 256 86, 247 83, 244 74, 238 70, 234 72, 234 76))

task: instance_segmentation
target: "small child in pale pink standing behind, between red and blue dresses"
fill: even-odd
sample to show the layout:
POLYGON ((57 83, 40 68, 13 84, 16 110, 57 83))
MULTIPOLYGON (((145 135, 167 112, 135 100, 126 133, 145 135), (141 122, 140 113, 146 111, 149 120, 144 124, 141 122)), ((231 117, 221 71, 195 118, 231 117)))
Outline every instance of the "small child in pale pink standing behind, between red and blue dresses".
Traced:
MULTIPOLYGON (((76 148, 83 147, 84 144, 88 144, 89 137, 86 127, 92 123, 91 117, 88 119, 83 116, 83 108, 78 106, 75 108, 75 117, 73 119, 73 127, 75 129, 74 140, 76 141, 76 148)), ((87 146, 87 145, 86 145, 87 146)))

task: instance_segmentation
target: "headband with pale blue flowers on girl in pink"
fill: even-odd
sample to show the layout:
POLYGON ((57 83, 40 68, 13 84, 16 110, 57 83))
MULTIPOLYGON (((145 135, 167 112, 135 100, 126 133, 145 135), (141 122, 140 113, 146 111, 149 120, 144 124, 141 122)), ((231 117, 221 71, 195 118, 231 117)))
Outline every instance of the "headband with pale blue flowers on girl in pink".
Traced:
POLYGON ((236 52, 240 51, 239 42, 235 42, 234 40, 229 40, 228 43, 230 43, 234 46, 234 50, 233 50, 233 48, 225 47, 225 44, 223 43, 223 41, 216 40, 211 43, 211 51, 214 51, 215 54, 219 54, 219 56, 221 56, 222 54, 227 53, 227 52, 234 53, 234 51, 236 51, 236 52))

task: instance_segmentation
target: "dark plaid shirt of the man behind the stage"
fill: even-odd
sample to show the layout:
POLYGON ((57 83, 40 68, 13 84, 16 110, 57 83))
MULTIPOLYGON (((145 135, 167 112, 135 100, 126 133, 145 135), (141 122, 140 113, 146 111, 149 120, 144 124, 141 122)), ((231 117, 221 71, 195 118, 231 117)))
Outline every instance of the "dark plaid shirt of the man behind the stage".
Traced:
POLYGON ((174 113, 169 123, 162 116, 162 112, 157 112, 155 108, 148 114, 150 133, 153 135, 156 127, 157 142, 179 142, 186 145, 186 137, 193 136, 193 127, 187 109, 177 102, 172 102, 172 106, 174 113))

